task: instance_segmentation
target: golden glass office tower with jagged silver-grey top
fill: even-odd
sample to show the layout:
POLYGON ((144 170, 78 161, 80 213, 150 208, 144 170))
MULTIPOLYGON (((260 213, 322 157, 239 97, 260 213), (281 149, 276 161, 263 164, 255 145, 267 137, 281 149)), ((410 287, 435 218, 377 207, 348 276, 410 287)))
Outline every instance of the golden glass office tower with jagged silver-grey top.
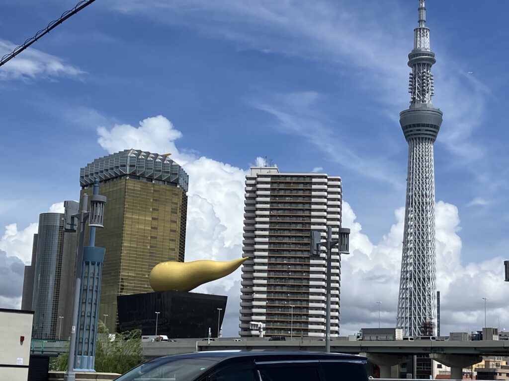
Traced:
POLYGON ((106 248, 99 318, 115 332, 117 296, 152 292, 155 265, 184 262, 189 176, 169 154, 128 149, 81 168, 81 195, 92 194, 95 178, 107 198, 95 241, 106 248))

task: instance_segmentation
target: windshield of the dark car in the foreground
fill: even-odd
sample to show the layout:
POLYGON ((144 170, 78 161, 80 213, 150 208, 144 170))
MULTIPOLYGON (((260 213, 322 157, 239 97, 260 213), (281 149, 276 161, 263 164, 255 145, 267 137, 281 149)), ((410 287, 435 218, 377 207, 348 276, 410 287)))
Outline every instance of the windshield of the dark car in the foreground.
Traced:
POLYGON ((190 381, 216 363, 206 359, 154 359, 131 369, 116 381, 190 381))

